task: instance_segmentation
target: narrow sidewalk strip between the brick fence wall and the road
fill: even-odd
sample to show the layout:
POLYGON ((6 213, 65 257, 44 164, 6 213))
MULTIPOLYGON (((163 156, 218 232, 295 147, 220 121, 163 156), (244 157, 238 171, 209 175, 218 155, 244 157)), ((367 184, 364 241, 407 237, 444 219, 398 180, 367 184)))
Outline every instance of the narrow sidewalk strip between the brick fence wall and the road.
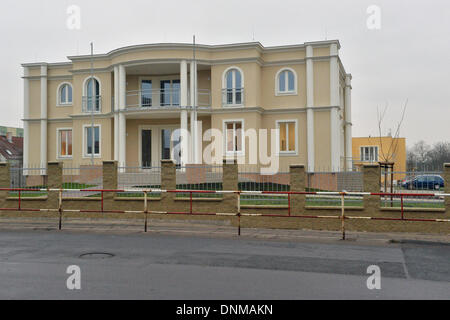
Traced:
MULTIPOLYGON (((0 230, 57 230, 57 218, 0 218, 0 230)), ((92 219, 66 218, 63 231, 92 233, 142 233, 144 221, 140 219, 92 219)), ((237 238, 236 227, 220 221, 148 220, 147 233, 193 235, 205 237, 237 238)), ((270 239, 282 241, 342 241, 339 231, 285 230, 285 229, 241 229, 241 238, 270 239)), ((387 244, 402 241, 427 241, 449 243, 450 235, 420 233, 372 233, 347 232, 346 241, 365 244, 387 244)))

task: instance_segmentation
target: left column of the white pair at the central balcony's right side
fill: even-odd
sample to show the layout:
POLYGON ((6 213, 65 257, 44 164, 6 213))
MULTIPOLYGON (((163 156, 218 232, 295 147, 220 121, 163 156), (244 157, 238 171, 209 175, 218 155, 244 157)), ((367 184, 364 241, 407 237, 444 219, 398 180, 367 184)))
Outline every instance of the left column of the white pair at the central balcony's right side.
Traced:
POLYGON ((189 161, 189 135, 188 135, 188 90, 187 90, 187 61, 180 63, 180 129, 181 129, 181 164, 189 161))

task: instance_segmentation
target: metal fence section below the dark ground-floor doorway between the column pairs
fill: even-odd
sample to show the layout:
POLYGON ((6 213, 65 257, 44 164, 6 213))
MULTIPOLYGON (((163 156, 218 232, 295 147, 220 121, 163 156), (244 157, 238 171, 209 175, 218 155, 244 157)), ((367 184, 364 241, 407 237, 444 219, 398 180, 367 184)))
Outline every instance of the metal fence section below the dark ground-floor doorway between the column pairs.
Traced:
MULTIPOLYGON (((142 197, 142 189, 160 189, 161 188, 161 167, 152 164, 148 167, 126 166, 118 167, 117 187, 119 189, 131 189, 136 192, 128 191, 119 193, 119 197, 142 197)), ((153 193, 152 196, 158 197, 160 194, 153 193)))

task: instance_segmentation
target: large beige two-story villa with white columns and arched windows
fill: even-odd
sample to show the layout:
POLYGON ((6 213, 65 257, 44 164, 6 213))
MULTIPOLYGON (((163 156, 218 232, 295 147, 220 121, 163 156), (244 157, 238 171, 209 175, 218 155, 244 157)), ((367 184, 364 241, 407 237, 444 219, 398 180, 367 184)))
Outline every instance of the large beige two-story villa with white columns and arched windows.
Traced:
POLYGON ((349 168, 351 75, 339 50, 338 41, 167 43, 23 64, 24 166, 199 164, 209 129, 223 132, 224 158, 246 163, 246 131, 279 129, 281 166, 349 168))

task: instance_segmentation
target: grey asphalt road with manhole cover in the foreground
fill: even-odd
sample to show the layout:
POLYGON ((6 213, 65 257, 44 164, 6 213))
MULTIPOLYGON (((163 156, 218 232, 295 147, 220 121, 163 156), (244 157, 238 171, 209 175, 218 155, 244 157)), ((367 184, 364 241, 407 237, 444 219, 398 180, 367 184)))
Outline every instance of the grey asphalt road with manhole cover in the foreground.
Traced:
POLYGON ((0 298, 450 299, 450 245, 0 231, 0 298))

